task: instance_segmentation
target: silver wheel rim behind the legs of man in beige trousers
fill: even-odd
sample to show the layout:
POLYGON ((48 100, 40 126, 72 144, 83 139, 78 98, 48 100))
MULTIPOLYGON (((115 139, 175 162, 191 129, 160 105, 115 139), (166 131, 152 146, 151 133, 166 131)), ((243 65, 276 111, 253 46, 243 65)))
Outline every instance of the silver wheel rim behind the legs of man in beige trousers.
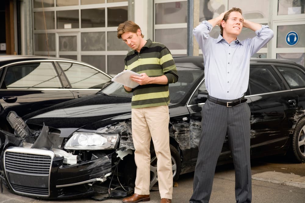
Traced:
MULTIPOLYGON (((177 163, 174 159, 173 156, 171 157, 171 162, 172 162, 172 171, 173 171, 173 177, 175 177, 177 173, 177 163)), ((158 175, 157 175, 157 157, 154 156, 150 160, 150 190, 159 190, 158 186, 158 175)))

